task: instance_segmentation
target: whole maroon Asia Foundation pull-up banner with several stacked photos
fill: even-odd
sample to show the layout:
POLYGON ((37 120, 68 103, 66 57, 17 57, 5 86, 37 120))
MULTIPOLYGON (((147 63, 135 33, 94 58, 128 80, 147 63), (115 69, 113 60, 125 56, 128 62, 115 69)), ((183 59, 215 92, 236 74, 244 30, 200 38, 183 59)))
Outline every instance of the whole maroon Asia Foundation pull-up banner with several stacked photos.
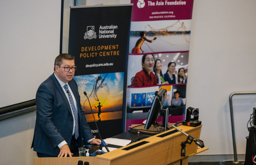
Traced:
POLYGON ((169 123, 183 121, 193 0, 131 3, 125 129, 145 122, 155 91, 161 88, 167 90, 164 108, 169 108, 169 123))

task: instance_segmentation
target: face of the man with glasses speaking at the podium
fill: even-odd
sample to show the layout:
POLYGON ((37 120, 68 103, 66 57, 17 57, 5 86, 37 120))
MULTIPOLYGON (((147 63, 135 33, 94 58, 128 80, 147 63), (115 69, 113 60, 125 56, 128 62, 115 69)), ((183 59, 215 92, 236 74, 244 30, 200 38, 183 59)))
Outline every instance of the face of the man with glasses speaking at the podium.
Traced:
POLYGON ((61 66, 62 67, 58 67, 57 65, 55 65, 55 74, 62 82, 67 83, 72 80, 75 71, 72 71, 72 69, 70 69, 69 71, 65 71, 63 67, 73 67, 75 66, 75 62, 74 60, 62 59, 61 66))

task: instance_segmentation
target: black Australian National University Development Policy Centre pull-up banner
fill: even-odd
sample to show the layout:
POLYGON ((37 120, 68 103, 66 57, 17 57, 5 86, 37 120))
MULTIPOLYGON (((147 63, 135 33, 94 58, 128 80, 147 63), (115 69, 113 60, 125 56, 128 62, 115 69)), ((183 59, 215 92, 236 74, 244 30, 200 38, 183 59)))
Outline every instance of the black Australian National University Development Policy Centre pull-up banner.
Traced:
POLYGON ((71 7, 69 54, 75 57, 74 80, 94 136, 123 132, 129 28, 132 5, 71 7), (125 89, 125 90, 124 90, 125 89))

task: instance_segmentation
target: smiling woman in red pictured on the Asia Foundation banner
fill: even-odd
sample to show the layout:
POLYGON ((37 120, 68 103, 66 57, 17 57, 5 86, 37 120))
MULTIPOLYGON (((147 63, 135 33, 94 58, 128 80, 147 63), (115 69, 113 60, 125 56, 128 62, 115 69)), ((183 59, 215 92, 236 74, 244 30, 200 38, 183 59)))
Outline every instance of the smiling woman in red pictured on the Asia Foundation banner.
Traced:
POLYGON ((153 67, 155 65, 155 59, 153 54, 143 55, 141 60, 142 69, 138 73, 136 73, 132 86, 140 87, 140 86, 151 86, 156 85, 156 75, 152 72, 153 67))

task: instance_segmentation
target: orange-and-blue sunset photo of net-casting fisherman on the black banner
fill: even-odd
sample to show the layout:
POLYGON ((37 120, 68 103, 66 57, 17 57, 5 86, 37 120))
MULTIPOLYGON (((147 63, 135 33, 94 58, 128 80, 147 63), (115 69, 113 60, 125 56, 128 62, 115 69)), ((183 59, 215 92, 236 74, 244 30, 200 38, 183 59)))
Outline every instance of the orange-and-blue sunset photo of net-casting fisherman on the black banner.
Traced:
POLYGON ((122 118, 124 73, 108 73, 75 76, 80 103, 88 122, 122 118), (86 91, 92 106, 84 95, 86 91))

